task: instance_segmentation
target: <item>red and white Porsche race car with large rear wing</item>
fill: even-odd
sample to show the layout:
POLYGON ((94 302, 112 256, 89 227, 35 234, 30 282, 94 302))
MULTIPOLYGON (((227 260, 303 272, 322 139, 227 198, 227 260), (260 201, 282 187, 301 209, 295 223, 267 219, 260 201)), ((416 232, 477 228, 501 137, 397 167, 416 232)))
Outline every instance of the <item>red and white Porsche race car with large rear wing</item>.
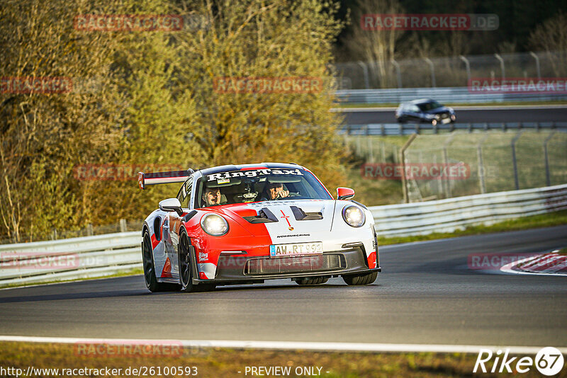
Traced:
POLYGON ((145 219, 142 258, 152 292, 211 289, 291 278, 299 285, 342 276, 348 285, 376 280, 374 218, 337 189, 334 200, 296 164, 218 166, 139 173, 140 188, 183 183, 145 219))

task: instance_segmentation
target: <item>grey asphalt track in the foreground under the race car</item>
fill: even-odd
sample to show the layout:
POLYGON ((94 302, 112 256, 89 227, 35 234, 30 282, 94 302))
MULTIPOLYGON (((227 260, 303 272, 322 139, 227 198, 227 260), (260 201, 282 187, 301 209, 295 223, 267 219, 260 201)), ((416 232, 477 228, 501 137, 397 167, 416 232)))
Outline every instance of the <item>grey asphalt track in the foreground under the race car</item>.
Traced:
POLYGON ((567 225, 383 246, 374 285, 150 294, 141 275, 0 290, 0 335, 567 346, 567 278, 469 270, 567 246, 567 225))

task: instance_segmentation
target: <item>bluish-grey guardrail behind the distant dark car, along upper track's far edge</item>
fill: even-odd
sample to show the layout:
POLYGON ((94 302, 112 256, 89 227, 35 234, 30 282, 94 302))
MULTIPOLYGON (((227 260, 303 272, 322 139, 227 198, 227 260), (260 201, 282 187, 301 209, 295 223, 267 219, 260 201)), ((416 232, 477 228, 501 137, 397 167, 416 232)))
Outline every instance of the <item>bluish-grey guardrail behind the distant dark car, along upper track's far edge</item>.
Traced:
POLYGON ((440 103, 503 103, 507 101, 559 101, 567 94, 557 93, 471 93, 468 87, 341 89, 335 96, 342 103, 398 104, 417 98, 434 98, 440 103))

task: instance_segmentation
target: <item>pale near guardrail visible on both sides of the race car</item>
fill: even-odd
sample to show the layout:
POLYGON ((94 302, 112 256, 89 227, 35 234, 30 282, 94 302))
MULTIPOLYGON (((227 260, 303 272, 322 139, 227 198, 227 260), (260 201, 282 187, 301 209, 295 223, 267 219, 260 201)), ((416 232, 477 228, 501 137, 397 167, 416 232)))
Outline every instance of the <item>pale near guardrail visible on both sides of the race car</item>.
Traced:
MULTIPOLYGON (((567 185, 369 207, 378 236, 449 232, 567 209, 567 185)), ((114 275, 142 268, 140 232, 0 246, 0 287, 114 275)))

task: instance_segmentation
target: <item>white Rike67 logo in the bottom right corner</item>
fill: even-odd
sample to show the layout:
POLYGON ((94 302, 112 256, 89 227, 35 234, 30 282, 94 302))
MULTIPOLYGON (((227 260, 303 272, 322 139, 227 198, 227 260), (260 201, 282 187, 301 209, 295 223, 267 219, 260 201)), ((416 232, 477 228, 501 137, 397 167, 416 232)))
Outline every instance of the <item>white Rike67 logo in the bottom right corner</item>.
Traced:
POLYGON ((554 347, 541 348, 535 358, 532 357, 510 357, 510 349, 498 350, 493 353, 490 349, 481 349, 478 352, 473 373, 477 371, 489 372, 490 362, 492 362, 491 373, 527 373, 533 367, 541 374, 551 376, 563 369, 563 355, 561 351, 554 347), (487 367, 488 365, 488 367, 487 367))

